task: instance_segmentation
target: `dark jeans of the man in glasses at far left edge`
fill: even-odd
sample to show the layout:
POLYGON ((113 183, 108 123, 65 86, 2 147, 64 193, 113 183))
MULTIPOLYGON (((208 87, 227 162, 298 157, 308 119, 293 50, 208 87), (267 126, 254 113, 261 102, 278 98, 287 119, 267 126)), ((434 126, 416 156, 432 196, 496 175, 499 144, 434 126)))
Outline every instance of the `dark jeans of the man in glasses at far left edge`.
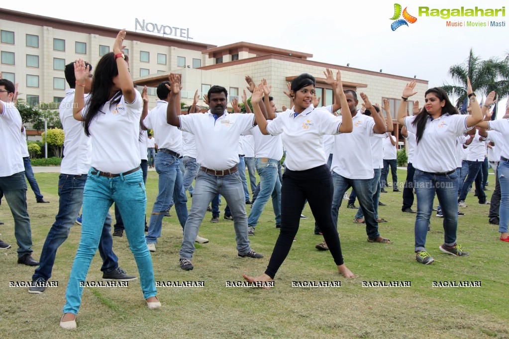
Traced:
POLYGON ((14 236, 18 244, 18 258, 25 254, 31 254, 33 252, 32 231, 29 212, 26 210, 25 174, 19 172, 0 177, 0 191, 4 192, 14 218, 14 236))

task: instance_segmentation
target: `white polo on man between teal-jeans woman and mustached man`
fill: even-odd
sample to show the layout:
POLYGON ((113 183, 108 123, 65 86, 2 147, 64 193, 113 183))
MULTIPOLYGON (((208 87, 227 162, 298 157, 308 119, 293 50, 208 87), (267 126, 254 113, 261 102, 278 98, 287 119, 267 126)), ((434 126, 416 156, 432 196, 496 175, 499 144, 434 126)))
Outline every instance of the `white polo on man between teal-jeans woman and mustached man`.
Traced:
POLYGON ((158 100, 156 104, 156 107, 154 107, 145 120, 143 120, 143 124, 147 129, 154 130, 153 139, 155 139, 158 148, 166 148, 181 153, 182 134, 179 132, 178 128, 166 122, 168 103, 164 100, 158 100))

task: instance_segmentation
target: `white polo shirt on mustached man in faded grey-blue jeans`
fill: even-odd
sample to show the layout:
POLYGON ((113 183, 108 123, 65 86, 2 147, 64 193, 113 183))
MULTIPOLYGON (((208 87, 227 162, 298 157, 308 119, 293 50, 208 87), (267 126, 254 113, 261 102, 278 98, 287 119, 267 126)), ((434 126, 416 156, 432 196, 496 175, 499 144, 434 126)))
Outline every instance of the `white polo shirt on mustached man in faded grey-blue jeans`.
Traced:
POLYGON ((204 114, 179 115, 180 129, 194 134, 196 162, 220 171, 239 163, 239 139, 254 124, 254 114, 228 113, 215 119, 210 110, 204 114))

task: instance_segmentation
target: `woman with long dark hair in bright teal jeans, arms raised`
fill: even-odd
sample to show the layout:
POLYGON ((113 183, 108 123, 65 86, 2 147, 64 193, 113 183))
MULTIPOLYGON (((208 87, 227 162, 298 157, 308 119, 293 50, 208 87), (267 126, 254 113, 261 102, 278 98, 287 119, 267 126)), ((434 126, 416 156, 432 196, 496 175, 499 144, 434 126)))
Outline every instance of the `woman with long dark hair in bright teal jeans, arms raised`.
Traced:
POLYGON ((104 218, 114 202, 123 217, 147 306, 153 309, 161 305, 155 296, 152 258, 144 234, 147 197, 138 146, 142 96, 134 88, 122 53, 125 35, 122 29, 113 52, 105 54, 97 63, 87 104, 82 84, 89 74, 88 67, 82 59, 74 64, 77 86, 73 115, 76 120, 83 121, 85 133, 92 139, 92 167, 83 192, 81 239, 60 322, 65 329, 76 328, 75 318, 83 287, 87 286, 87 272, 97 251, 104 218))

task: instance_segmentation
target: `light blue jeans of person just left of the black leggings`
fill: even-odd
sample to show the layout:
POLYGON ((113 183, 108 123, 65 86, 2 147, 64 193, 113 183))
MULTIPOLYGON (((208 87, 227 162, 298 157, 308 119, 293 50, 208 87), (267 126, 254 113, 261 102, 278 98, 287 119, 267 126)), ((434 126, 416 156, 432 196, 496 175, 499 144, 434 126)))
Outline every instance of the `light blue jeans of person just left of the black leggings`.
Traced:
POLYGON ((281 183, 277 172, 278 163, 279 161, 275 159, 256 158, 256 170, 260 176, 260 193, 251 207, 249 218, 247 218, 248 226, 256 227, 270 196, 272 196, 276 225, 281 224, 281 183))

